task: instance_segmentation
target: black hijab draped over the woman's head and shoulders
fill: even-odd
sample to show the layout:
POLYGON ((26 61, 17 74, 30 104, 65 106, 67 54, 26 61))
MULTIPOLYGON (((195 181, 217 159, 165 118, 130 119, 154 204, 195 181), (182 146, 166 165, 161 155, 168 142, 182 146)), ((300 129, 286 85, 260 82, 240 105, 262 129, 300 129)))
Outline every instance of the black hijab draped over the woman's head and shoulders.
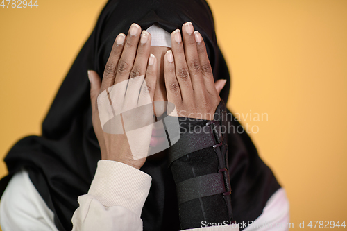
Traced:
MULTIPOLYGON (((101 159, 92 126, 90 83, 87 70, 103 76, 112 44, 127 34, 133 22, 146 29, 154 23, 171 33, 192 22, 207 46, 214 79, 227 79, 221 99, 228 100, 230 76, 217 45, 212 12, 203 0, 110 0, 63 81, 42 124, 42 136, 19 140, 5 158, 9 174, 0 182, 0 195, 14 173, 25 167, 37 191, 54 213, 58 230, 71 230, 77 198, 87 194, 101 159)), ((239 126, 232 118, 231 124, 239 126)), ((280 185, 260 160, 246 132, 228 136, 229 171, 234 219, 254 221, 280 185)), ((146 161, 141 169, 152 176, 142 210, 144 230, 180 230, 176 190, 167 160, 146 161)))

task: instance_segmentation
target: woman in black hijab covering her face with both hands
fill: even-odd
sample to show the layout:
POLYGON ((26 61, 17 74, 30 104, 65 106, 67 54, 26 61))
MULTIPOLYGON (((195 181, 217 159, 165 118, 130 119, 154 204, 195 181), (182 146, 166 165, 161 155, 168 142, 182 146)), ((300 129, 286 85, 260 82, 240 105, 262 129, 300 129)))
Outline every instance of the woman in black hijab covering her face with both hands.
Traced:
MULTIPOLYGON (((252 222, 287 221, 285 192, 246 132, 183 131, 239 126, 214 113, 230 115, 223 106, 229 86, 221 79, 229 80, 228 67, 205 1, 108 1, 53 101, 42 137, 20 140, 5 159, 3 230, 181 230, 225 228, 234 220, 243 230, 252 222), (87 70, 94 70, 90 81, 87 70), (176 144, 147 158, 133 156, 129 136, 103 130, 96 104, 106 89, 137 76, 145 76, 151 101, 174 103, 181 132, 176 144)), ((157 121, 170 114, 153 109, 157 121)), ((160 143, 153 134, 152 142, 140 137, 146 137, 140 147, 160 143)))

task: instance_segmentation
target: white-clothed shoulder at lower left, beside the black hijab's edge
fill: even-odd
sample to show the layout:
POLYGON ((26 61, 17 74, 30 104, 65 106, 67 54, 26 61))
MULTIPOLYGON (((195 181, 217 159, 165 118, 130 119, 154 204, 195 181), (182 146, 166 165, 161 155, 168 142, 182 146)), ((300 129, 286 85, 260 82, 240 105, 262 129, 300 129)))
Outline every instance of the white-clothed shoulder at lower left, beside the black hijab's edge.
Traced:
POLYGON ((12 176, 0 202, 0 224, 3 231, 57 230, 53 212, 31 182, 25 169, 12 176))

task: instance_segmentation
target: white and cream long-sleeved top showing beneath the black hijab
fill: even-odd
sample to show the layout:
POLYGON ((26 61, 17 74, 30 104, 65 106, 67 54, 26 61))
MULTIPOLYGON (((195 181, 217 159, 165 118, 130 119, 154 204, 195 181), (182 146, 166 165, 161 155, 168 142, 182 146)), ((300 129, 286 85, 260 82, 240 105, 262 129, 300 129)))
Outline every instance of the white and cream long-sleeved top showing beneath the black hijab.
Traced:
MULTIPOLYGON (((140 216, 150 187, 151 176, 143 171, 121 162, 100 160, 88 194, 78 197, 80 206, 72 217, 73 230, 142 230, 140 216)), ((53 216, 28 172, 22 169, 16 173, 1 197, 2 230, 56 231, 53 216)), ((289 202, 280 188, 269 198, 262 214, 244 230, 287 230, 281 228, 285 223, 289 223, 289 202)), ((235 225, 212 225, 202 222, 201 228, 189 231, 239 230, 235 225)))

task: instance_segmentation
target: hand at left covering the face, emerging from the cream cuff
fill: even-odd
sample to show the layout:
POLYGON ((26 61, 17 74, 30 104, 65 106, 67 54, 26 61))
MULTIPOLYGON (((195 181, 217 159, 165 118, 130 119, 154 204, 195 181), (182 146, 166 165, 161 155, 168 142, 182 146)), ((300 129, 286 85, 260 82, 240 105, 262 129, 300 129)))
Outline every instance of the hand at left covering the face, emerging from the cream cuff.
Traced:
MULTIPOLYGON (((128 85, 130 85, 130 83, 133 83, 132 81, 134 81, 132 78, 144 75, 147 88, 145 89, 144 87, 140 87, 139 90, 142 91, 141 93, 144 94, 144 96, 146 96, 146 94, 147 96, 149 95, 148 97, 153 101, 153 94, 157 80, 157 61, 154 55, 150 55, 150 48, 151 35, 146 31, 141 33, 140 26, 132 24, 127 36, 121 33, 116 37, 110 57, 105 66, 103 80, 101 81, 101 78, 95 71, 88 71, 88 77, 91 84, 90 98, 92 103, 92 123, 96 137, 99 141, 102 160, 123 162, 124 164, 133 166, 136 169, 140 169, 146 161, 146 155, 143 155, 141 158, 134 158, 125 132, 124 134, 109 134, 103 131, 99 118, 97 98, 101 92, 117 83, 129 80, 128 85)), ((137 78, 134 79, 136 85, 137 78)), ((119 86, 121 85, 117 85, 117 87, 119 86)), ((124 92, 126 91, 126 89, 123 90, 124 92)), ((115 97, 115 100, 118 100, 118 102, 115 102, 113 101, 114 99, 112 99, 112 103, 123 105, 126 101, 126 97, 128 97, 127 100, 129 102, 137 102, 139 94, 132 94, 130 96, 129 94, 126 94, 121 99, 115 97), (136 101, 133 101, 132 99, 136 99, 136 101)), ((139 117, 137 117, 137 119, 139 119, 139 117)), ((146 148, 147 145, 149 146, 149 144, 146 143, 151 139, 151 132, 151 128, 146 129, 142 134, 141 132, 140 134, 137 132, 137 137, 146 137, 144 141, 137 143, 140 148, 146 148)))

